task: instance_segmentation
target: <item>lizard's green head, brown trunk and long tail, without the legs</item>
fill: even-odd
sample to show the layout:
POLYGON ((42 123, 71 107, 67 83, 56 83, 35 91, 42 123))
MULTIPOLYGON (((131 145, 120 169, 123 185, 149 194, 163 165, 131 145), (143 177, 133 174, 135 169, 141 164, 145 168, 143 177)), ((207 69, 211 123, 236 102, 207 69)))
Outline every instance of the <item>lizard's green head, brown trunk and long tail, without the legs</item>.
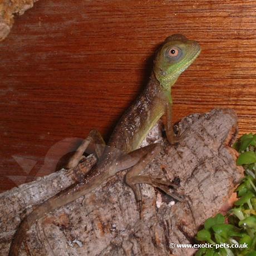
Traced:
POLYGON ((105 149, 100 163, 92 168, 81 183, 72 185, 48 199, 22 220, 14 235, 9 256, 18 256, 27 230, 36 220, 89 193, 118 171, 129 168, 139 161, 139 156, 136 157, 136 154, 126 161, 125 165, 118 159, 138 149, 152 126, 165 114, 166 105, 172 103, 171 86, 199 53, 198 43, 182 35, 166 38, 163 46, 156 53, 153 72, 147 87, 116 125, 107 144, 109 147, 105 149))

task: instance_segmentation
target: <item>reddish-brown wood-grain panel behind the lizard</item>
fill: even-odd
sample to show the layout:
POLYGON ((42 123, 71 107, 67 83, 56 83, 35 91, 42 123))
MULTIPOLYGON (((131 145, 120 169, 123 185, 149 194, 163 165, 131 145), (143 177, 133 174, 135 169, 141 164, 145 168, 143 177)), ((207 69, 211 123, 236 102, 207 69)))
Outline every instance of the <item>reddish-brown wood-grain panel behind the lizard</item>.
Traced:
POLYGON ((202 48, 173 88, 174 121, 232 107, 240 134, 256 132, 255 13, 249 0, 38 1, 0 43, 0 190, 60 168, 93 128, 107 139, 173 33, 202 48))

